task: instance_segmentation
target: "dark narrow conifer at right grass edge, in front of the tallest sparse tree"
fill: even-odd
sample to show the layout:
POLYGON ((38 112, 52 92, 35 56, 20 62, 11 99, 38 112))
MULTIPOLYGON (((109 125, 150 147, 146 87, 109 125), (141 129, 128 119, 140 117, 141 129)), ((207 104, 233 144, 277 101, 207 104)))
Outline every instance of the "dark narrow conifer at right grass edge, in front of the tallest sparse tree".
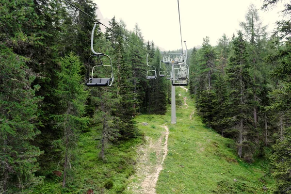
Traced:
POLYGON ((238 155, 240 158, 252 160, 252 125, 250 124, 250 95, 251 77, 249 73, 248 53, 246 42, 242 38, 242 32, 232 40, 233 53, 229 58, 226 67, 226 74, 229 81, 228 104, 228 129, 237 130, 238 155))

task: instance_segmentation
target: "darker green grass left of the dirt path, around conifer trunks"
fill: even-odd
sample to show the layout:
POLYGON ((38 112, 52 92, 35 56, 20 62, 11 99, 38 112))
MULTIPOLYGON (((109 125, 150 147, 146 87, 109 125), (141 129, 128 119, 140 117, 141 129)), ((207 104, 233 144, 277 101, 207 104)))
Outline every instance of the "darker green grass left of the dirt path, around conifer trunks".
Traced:
POLYGON ((127 187, 129 176, 134 173, 133 167, 136 162, 134 147, 143 140, 140 137, 109 146, 105 154, 106 161, 103 162, 98 159, 99 136, 100 131, 97 129, 81 135, 65 189, 62 188, 62 178, 48 177, 34 193, 85 194, 89 189, 93 189, 97 194, 122 193, 127 187))

